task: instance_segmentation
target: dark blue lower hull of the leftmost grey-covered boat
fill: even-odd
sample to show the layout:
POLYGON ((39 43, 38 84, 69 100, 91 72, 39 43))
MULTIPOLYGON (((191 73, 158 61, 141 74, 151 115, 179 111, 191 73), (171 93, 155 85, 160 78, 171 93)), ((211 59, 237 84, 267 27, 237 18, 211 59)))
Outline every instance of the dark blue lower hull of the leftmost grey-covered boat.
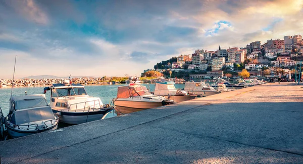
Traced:
POLYGON ((39 130, 39 131, 36 131, 36 130, 35 131, 20 131, 17 128, 12 128, 12 127, 8 126, 7 124, 5 124, 5 125, 7 127, 7 132, 9 134, 9 136, 12 138, 18 138, 18 137, 28 136, 31 134, 41 133, 41 132, 45 132, 45 131, 56 130, 58 128, 58 123, 59 122, 57 122, 57 124, 52 127, 49 127, 47 129, 43 129, 43 130, 39 130))

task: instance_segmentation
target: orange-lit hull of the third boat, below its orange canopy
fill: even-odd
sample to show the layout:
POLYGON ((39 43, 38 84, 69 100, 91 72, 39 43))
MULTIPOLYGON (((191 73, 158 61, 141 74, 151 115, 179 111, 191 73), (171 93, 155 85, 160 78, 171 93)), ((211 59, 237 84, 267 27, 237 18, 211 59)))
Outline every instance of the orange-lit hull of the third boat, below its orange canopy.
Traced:
POLYGON ((116 100, 115 106, 118 112, 122 114, 129 114, 132 112, 138 112, 142 110, 147 110, 149 108, 155 108, 163 106, 162 102, 144 102, 144 101, 126 101, 126 100, 116 100))

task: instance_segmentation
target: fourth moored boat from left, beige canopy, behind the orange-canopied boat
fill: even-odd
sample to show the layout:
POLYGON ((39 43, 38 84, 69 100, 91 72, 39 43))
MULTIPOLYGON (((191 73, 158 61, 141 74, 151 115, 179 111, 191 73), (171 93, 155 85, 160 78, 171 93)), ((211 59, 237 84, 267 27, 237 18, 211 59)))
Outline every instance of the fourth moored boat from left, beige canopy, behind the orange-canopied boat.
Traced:
POLYGON ((187 91, 175 88, 173 81, 156 82, 154 94, 164 96, 176 102, 187 101, 196 98, 196 95, 189 95, 187 91))

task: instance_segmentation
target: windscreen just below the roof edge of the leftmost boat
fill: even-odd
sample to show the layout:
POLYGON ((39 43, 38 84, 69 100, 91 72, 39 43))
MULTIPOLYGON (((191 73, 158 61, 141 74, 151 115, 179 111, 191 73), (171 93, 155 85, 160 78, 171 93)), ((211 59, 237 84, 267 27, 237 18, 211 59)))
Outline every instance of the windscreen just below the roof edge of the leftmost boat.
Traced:
POLYGON ((45 98, 22 99, 15 101, 15 109, 22 110, 30 107, 48 106, 45 98))

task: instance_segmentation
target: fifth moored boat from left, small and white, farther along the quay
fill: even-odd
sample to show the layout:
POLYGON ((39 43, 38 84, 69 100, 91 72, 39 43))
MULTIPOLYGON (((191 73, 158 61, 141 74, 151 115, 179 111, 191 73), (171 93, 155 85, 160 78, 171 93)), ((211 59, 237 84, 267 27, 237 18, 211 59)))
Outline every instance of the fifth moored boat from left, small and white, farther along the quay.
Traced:
POLYGON ((186 82, 184 90, 186 90, 189 94, 201 96, 210 96, 222 92, 214 89, 214 87, 211 87, 204 82, 186 82))

